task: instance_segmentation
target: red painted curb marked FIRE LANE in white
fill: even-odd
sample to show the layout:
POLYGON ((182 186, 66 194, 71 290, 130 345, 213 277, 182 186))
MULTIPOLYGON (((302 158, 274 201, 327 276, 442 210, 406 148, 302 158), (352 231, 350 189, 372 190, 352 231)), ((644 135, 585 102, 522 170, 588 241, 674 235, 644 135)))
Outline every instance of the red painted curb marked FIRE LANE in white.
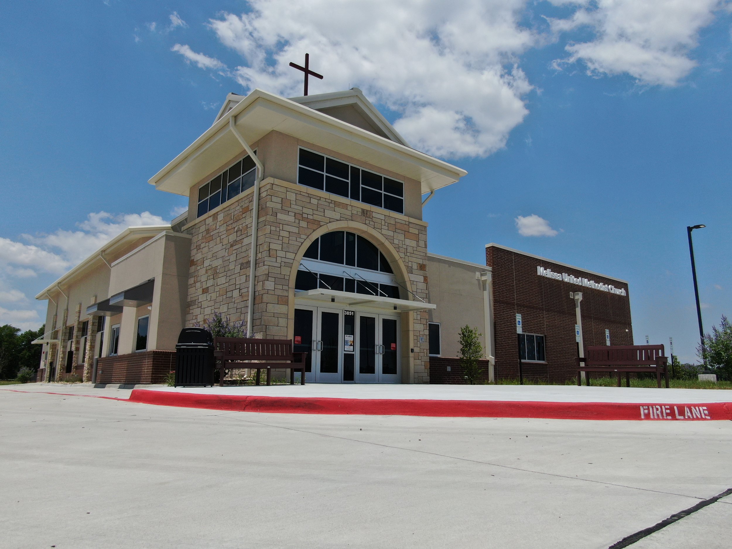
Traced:
POLYGON ((411 400, 202 395, 132 389, 130 402, 266 412, 268 414, 360 414, 429 417, 534 417, 543 419, 732 420, 732 403, 631 404, 515 402, 496 400, 411 400))

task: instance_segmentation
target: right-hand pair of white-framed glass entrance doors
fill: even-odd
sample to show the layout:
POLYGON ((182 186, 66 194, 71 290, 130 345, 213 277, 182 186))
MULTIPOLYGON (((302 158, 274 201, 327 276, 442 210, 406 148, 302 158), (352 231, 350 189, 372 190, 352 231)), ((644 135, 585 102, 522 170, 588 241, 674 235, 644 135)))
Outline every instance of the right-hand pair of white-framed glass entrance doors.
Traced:
POLYGON ((356 321, 356 381, 399 383, 399 318, 359 313, 356 321))

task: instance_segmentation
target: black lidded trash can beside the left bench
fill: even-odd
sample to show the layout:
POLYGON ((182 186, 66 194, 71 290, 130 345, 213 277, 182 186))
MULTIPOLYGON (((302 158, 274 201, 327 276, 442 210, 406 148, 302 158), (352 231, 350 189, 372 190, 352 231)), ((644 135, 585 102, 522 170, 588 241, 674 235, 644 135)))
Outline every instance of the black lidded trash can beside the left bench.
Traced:
POLYGON ((176 387, 214 385, 214 341, 203 328, 184 328, 176 345, 176 387))

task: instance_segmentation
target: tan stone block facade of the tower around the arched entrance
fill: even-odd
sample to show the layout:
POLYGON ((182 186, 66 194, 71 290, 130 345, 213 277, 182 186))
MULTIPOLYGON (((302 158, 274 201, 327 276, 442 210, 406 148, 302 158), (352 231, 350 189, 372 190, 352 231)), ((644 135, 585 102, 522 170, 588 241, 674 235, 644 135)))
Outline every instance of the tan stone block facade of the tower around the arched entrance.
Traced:
MULTIPOLYGON (((214 312, 246 318, 253 190, 196 220, 191 242, 187 325, 214 312)), ((427 299, 427 224, 405 215, 267 178, 261 182, 255 270, 254 326, 261 337, 292 337, 294 280, 300 258, 315 238, 348 230, 376 244, 397 280, 427 299)), ((403 295, 403 299, 411 299, 403 295)), ((402 313, 405 381, 428 383, 427 314, 402 313), (414 352, 411 350, 414 349, 414 352), (411 376, 411 378, 410 378, 411 376)))

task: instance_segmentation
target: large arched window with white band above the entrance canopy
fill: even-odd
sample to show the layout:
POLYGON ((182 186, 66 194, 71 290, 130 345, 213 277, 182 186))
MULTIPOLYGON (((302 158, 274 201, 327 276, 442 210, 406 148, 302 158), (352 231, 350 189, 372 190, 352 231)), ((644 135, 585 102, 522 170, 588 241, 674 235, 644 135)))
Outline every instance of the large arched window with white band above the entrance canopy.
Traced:
POLYGON ((373 242, 348 231, 324 234, 302 256, 295 289, 315 288, 400 298, 397 279, 384 254, 373 242))

